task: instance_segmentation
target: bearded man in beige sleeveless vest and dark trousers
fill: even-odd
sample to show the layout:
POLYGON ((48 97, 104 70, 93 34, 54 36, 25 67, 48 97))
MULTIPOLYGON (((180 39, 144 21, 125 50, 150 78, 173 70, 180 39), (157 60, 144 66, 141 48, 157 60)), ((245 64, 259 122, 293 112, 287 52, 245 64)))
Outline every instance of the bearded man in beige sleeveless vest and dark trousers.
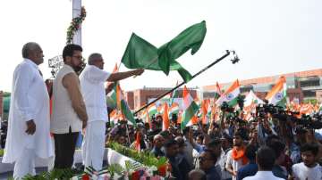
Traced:
POLYGON ((53 83, 50 129, 55 139, 54 168, 72 168, 77 137, 81 129, 87 126, 88 115, 76 74, 81 69, 81 52, 80 45, 64 47, 64 66, 53 83))

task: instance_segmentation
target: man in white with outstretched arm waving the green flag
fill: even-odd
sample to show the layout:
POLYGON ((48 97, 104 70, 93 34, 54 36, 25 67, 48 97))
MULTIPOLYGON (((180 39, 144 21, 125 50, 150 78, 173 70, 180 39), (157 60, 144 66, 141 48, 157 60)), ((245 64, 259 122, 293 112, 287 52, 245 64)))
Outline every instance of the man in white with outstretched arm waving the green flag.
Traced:
POLYGON ((92 53, 89 55, 89 64, 80 74, 81 93, 89 116, 82 144, 82 157, 85 167, 91 166, 96 170, 102 168, 106 138, 107 107, 104 83, 140 75, 144 71, 129 70, 110 74, 103 68, 102 55, 92 53))

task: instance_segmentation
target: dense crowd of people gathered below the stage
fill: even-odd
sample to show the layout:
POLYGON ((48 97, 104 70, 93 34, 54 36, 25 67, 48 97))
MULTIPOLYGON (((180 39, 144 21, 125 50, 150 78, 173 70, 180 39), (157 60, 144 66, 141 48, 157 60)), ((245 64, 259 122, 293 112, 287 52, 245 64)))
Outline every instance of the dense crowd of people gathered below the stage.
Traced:
POLYGON ((210 125, 201 120, 180 128, 177 119, 162 130, 162 117, 138 127, 119 121, 109 127, 106 141, 134 148, 140 135, 140 151, 166 157, 176 179, 321 179, 322 138, 320 132, 297 122, 253 117, 249 122, 228 118, 210 125))

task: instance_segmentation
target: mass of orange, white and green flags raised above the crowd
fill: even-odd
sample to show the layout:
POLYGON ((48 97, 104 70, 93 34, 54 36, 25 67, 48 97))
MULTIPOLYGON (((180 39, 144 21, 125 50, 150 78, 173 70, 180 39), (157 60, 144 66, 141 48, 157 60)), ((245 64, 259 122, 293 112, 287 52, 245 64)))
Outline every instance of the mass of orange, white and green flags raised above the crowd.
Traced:
MULTIPOLYGON (((116 119, 129 119, 131 123, 135 123, 134 117, 131 113, 131 110, 126 105, 127 103, 122 99, 122 94, 120 86, 115 86, 112 96, 117 100, 118 110, 113 110, 110 114, 111 124, 117 122, 116 119), (123 106, 121 106, 121 103, 123 106), (120 107, 121 106, 121 107, 120 107), (125 107, 125 108, 124 108, 125 107), (127 107, 127 108, 126 108, 127 107)), ((219 119, 221 110, 220 105, 223 102, 228 102, 228 104, 237 108, 237 97, 241 94, 240 92, 240 83, 236 79, 231 86, 229 86, 225 93, 221 93, 219 84, 216 82, 216 93, 213 98, 203 99, 199 101, 199 98, 192 98, 186 86, 183 87, 182 95, 182 109, 181 105, 178 102, 174 102, 175 98, 180 98, 178 91, 173 94, 167 94, 165 98, 168 101, 163 102, 159 106, 156 103, 152 103, 148 106, 147 109, 142 110, 138 118, 143 119, 143 122, 148 123, 151 127, 151 119, 156 118, 157 116, 162 117, 162 129, 168 129, 171 126, 171 119, 174 114, 177 116, 177 123, 181 124, 181 127, 187 127, 191 125, 196 125, 202 123, 203 125, 208 125, 213 120, 219 119)), ((284 77, 277 79, 275 86, 267 93, 266 100, 268 103, 274 105, 280 105, 285 107, 287 110, 299 111, 301 115, 309 115, 322 110, 322 104, 311 104, 311 103, 298 103, 298 102, 289 102, 286 103, 286 81, 284 77)), ((250 92, 245 96, 243 101, 242 109, 242 119, 248 121, 254 116, 256 112, 256 107, 258 104, 263 104, 264 101, 258 98, 258 96, 250 90, 250 92)))

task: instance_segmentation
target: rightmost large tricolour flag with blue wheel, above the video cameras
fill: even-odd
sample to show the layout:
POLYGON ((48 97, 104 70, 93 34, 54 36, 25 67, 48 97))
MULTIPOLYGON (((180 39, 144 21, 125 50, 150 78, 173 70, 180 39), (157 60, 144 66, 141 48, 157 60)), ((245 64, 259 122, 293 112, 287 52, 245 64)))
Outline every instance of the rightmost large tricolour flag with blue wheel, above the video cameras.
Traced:
POLYGON ((286 106, 286 78, 281 77, 278 79, 275 86, 267 94, 266 98, 268 103, 279 106, 286 106))

